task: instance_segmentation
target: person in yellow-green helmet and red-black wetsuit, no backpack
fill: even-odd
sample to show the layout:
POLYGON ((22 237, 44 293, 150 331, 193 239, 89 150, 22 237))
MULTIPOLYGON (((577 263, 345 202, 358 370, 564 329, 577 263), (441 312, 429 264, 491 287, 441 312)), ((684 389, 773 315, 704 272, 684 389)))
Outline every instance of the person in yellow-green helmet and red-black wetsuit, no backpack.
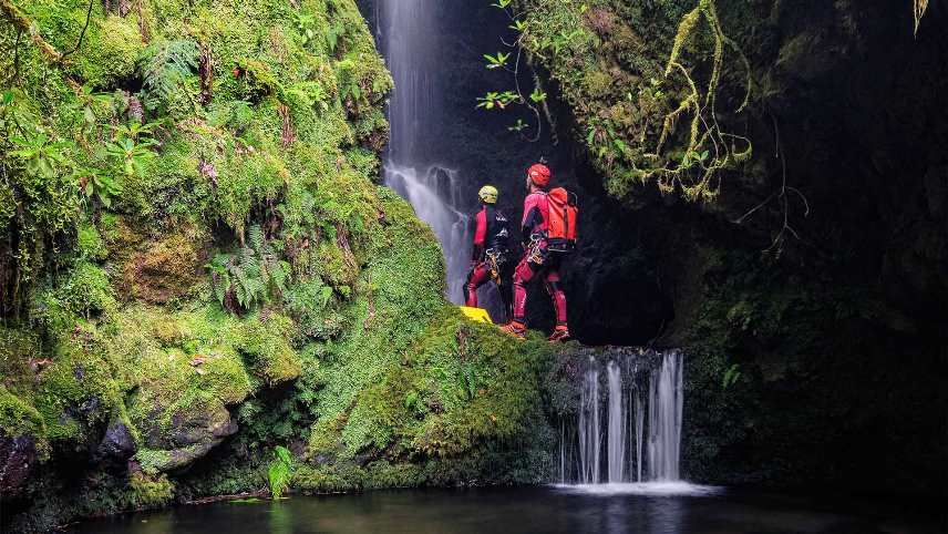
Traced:
MULTIPOLYGON (((490 280, 497 284, 504 301, 504 314, 509 315, 509 284, 503 284, 509 257, 509 223, 503 212, 497 209, 497 188, 485 185, 477 193, 481 210, 474 217, 474 250, 471 256, 471 273, 464 284, 464 300, 472 308, 477 307, 477 288, 490 280)), ((505 317, 506 320, 506 317, 505 317)))

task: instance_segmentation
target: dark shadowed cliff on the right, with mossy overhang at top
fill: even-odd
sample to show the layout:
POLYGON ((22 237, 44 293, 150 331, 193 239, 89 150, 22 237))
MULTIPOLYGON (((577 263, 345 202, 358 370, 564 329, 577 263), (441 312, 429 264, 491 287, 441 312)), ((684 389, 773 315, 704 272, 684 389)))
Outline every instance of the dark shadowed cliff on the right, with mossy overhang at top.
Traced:
POLYGON ((690 353, 691 476, 935 491, 944 7, 914 35, 887 2, 516 3, 580 183, 621 199, 657 258, 658 342, 690 353))

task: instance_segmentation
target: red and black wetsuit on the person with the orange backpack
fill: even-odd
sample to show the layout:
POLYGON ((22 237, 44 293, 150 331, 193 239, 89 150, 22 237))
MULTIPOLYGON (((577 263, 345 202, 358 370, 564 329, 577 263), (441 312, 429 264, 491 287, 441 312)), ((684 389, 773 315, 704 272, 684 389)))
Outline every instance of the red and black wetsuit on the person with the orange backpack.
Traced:
POLYGON ((556 325, 566 326, 566 294, 559 284, 560 254, 549 250, 546 230, 549 222, 549 204, 546 193, 535 192, 524 201, 524 218, 521 229, 524 236, 525 253, 514 270, 514 320, 524 322, 527 304, 527 284, 537 275, 543 276, 544 285, 553 307, 556 310, 556 325))

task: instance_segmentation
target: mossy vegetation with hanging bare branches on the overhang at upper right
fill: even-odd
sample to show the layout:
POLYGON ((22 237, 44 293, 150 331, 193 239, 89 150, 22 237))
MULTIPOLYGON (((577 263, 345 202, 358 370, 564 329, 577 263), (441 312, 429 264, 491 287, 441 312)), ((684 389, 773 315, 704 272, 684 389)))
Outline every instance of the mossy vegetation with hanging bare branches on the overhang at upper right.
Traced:
MULTIPOLYGON (((691 3, 501 0, 494 7, 512 21, 514 50, 484 58, 488 69, 509 71, 515 82, 524 52, 549 71, 615 196, 627 198, 637 184, 655 183, 662 193, 711 201, 722 173, 751 155, 750 140, 719 121, 744 111, 753 80, 715 1, 689 9, 691 3), (719 85, 734 78, 734 63, 743 70, 744 97, 725 110, 719 85)), ((537 129, 542 112, 552 121, 538 78, 528 96, 516 82, 515 90, 478 101, 486 110, 524 104, 536 114, 537 129)), ((526 127, 518 120, 511 130, 526 127)))

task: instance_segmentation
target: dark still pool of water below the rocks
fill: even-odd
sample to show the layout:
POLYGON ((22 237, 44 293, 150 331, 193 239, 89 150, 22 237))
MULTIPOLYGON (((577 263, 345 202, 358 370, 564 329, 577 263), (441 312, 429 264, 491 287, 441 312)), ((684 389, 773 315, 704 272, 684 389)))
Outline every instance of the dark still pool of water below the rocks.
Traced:
POLYGON ((873 506, 750 493, 586 494, 557 487, 391 491, 179 506, 87 522, 74 534, 908 533, 937 522, 873 506), (926 525, 927 523, 927 525, 926 525))

